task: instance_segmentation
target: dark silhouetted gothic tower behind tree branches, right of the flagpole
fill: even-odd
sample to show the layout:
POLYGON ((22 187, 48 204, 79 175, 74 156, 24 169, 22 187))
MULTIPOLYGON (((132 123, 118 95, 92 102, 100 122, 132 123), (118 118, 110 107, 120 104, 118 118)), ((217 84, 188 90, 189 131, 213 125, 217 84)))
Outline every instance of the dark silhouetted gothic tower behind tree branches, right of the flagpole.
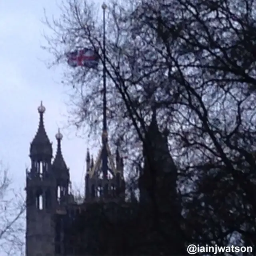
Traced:
MULTIPOLYGON (((177 192, 178 170, 168 148, 169 132, 167 129, 160 131, 156 118, 156 109, 153 108, 152 120, 144 137, 144 168, 139 177, 139 205, 143 211, 148 209, 148 216, 144 216, 147 225, 154 223, 157 216, 157 230, 161 230, 165 239, 170 241, 166 244, 165 239, 153 239, 152 243, 155 243, 156 248, 165 243, 162 248, 165 251, 163 255, 185 255, 181 201, 177 192)), ((154 232, 152 237, 153 234, 154 232)), ((159 236, 159 233, 157 234, 159 236)), ((148 236, 150 237, 150 234, 148 236)))

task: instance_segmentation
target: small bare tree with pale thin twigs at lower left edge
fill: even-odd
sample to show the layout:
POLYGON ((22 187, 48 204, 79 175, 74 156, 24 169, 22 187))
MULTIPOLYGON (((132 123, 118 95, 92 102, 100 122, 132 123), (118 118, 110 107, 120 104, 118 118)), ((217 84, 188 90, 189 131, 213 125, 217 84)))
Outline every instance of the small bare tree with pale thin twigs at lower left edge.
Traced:
POLYGON ((25 204, 12 186, 8 170, 0 163, 0 251, 3 255, 24 255, 25 204))

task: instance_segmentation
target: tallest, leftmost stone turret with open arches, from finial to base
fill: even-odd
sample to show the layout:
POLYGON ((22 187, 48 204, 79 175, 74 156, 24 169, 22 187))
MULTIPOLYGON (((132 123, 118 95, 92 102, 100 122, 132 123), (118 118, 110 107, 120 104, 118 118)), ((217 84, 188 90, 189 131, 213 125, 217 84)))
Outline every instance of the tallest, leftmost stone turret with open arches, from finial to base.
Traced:
POLYGON ((51 169, 52 144, 44 129, 42 102, 39 126, 30 144, 31 168, 26 178, 26 255, 54 255, 51 225, 56 203, 56 180, 51 169))

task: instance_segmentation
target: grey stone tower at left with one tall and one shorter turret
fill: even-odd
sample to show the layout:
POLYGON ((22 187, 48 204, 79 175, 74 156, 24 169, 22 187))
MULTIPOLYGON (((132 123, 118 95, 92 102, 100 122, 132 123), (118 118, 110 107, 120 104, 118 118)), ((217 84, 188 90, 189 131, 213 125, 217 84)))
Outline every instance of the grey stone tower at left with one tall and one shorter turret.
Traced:
POLYGON ((55 215, 68 194, 69 170, 58 148, 52 164, 52 143, 44 128, 45 107, 38 107, 39 126, 30 144, 31 168, 26 173, 26 255, 56 255, 55 215))

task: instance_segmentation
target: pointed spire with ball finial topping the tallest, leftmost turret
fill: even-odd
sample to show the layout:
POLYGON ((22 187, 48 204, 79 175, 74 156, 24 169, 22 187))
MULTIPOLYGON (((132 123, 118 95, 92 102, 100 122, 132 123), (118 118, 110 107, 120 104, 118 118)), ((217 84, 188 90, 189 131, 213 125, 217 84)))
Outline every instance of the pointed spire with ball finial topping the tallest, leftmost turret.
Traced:
POLYGON ((52 157, 52 144, 46 134, 44 128, 44 112, 46 108, 43 106, 41 101, 40 106, 38 107, 39 113, 39 126, 36 132, 36 136, 30 145, 30 156, 49 156, 52 157))

